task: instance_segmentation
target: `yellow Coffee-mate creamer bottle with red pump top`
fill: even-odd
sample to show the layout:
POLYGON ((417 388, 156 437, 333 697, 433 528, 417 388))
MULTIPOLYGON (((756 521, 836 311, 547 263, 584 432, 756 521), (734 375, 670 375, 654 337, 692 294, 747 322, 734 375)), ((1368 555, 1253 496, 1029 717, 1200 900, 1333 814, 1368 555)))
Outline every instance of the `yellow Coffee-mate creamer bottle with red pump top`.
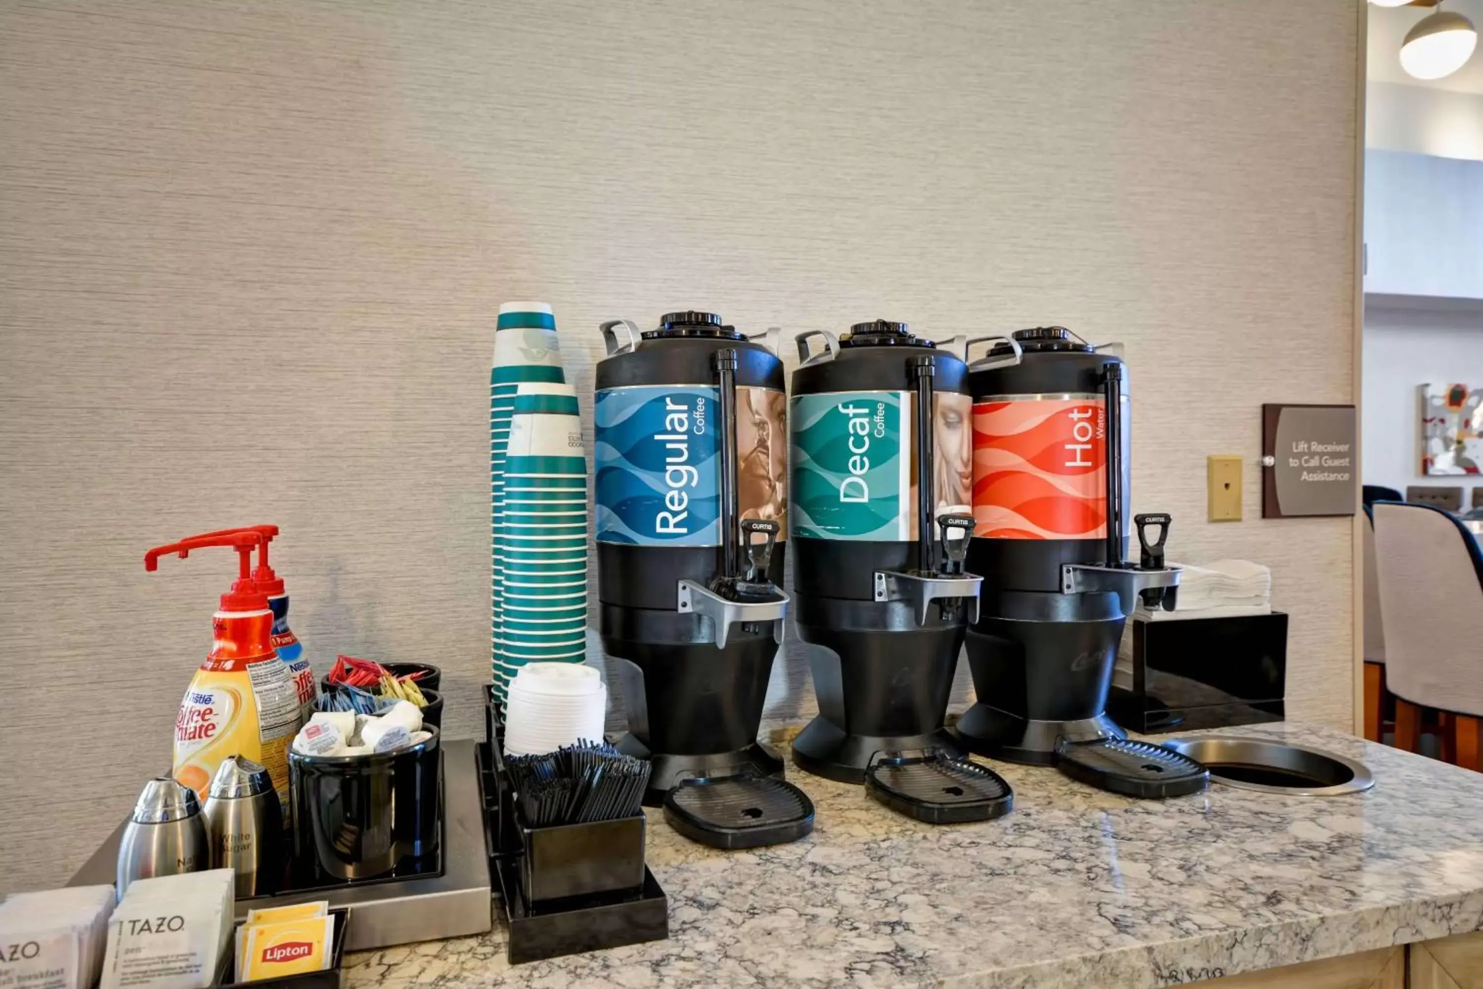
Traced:
POLYGON ((184 559, 191 550, 209 546, 237 550, 240 574, 212 615, 211 654, 185 688, 175 719, 172 773, 205 801, 221 761, 246 756, 267 768, 286 810, 288 747, 303 719, 294 675, 271 645, 273 611, 267 595, 249 575, 252 549, 261 543, 262 534, 257 531, 182 540, 145 553, 144 569, 156 569, 166 553, 184 559))

